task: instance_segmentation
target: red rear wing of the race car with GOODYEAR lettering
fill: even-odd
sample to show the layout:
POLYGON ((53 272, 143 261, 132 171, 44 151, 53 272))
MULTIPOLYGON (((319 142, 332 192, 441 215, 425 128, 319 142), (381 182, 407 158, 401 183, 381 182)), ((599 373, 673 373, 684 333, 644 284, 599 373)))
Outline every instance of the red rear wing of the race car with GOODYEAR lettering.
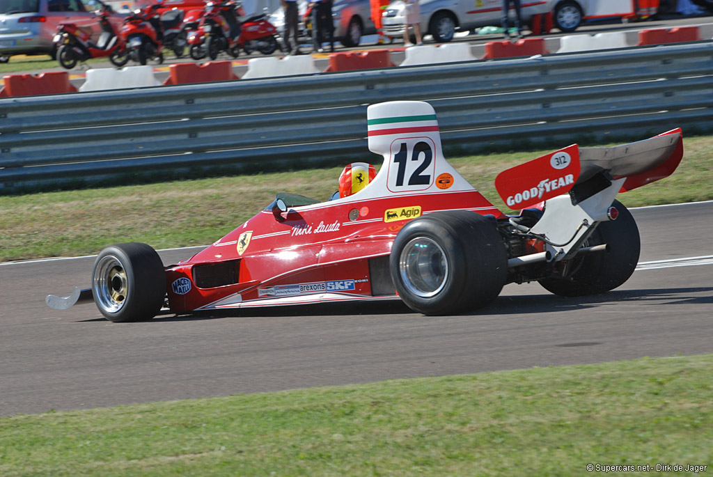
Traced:
POLYGON ((575 186, 585 189, 585 184, 601 182, 602 177, 625 179, 620 192, 627 192, 668 177, 682 157, 682 131, 677 128, 611 148, 570 145, 504 170, 495 185, 508 207, 524 209, 568 193, 575 186))

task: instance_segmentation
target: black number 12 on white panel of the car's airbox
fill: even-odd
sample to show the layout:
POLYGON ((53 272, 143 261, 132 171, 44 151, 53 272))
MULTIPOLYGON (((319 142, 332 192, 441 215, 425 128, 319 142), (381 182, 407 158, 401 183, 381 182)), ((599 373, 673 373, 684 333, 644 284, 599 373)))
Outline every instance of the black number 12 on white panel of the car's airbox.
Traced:
POLYGON ((426 190, 434 180, 434 143, 430 138, 398 139, 391 143, 389 190, 426 190))

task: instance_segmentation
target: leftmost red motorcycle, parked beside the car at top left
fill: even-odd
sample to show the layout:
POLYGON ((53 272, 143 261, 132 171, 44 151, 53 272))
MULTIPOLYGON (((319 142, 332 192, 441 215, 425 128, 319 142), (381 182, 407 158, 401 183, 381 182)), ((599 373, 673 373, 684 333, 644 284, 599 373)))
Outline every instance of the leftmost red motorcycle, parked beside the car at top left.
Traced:
POLYGON ((91 41, 91 30, 87 31, 76 24, 57 26, 57 33, 52 41, 57 49, 57 60, 63 68, 71 70, 78 61, 103 56, 108 56, 109 61, 115 66, 124 66, 129 61, 126 43, 116 34, 109 21, 112 12, 111 6, 106 4, 101 4, 101 9, 95 12, 101 26, 101 35, 97 43, 91 41))

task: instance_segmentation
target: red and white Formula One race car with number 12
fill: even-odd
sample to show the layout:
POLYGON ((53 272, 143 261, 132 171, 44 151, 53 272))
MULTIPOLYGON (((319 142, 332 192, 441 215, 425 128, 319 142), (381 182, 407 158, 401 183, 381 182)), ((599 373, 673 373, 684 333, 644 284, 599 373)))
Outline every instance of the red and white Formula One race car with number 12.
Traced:
POLYGON ((398 296, 416 312, 452 314, 492 302, 503 285, 538 281, 563 296, 598 294, 635 270, 639 232, 615 196, 670 175, 681 130, 615 148, 570 145, 504 171, 508 216, 451 167, 428 103, 369 106, 369 149, 381 170, 359 192, 322 202, 277 194, 265 210, 164 267, 145 244, 102 250, 91 289, 47 297, 65 309, 93 299, 113 322, 244 307, 398 296))

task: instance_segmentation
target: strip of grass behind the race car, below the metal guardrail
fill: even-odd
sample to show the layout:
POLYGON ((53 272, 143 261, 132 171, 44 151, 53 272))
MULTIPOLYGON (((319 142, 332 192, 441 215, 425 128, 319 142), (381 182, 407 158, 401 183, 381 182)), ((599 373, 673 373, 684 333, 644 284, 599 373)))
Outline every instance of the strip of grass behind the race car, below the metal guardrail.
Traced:
MULTIPOLYGON (((670 178, 619 196, 630 207, 713 199, 713 137, 685 139, 670 178)), ((508 211, 493 181, 508 167, 543 155, 530 151, 449 160, 496 206, 508 211)), ((207 245, 275 198, 301 193, 327 200, 341 167, 0 196, 0 261, 91 255, 112 243, 153 247, 207 245)))

